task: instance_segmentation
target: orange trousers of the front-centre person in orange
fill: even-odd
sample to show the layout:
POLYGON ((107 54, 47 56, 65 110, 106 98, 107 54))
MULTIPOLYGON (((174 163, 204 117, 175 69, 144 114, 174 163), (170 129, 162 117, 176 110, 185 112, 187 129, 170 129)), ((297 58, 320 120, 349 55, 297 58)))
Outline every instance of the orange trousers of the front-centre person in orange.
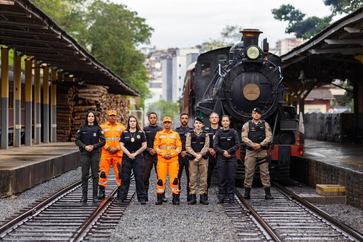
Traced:
POLYGON ((172 193, 179 193, 179 163, 176 161, 158 161, 156 165, 156 171, 158 173, 158 181, 156 181, 156 193, 162 194, 165 192, 165 180, 166 175, 169 172, 170 178, 170 190, 172 193))

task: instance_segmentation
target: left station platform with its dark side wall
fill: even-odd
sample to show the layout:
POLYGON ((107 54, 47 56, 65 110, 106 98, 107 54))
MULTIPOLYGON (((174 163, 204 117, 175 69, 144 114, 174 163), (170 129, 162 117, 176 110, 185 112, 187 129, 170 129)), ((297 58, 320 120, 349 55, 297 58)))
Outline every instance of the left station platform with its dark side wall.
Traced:
POLYGON ((74 142, 0 150, 0 197, 21 192, 80 165, 74 142))

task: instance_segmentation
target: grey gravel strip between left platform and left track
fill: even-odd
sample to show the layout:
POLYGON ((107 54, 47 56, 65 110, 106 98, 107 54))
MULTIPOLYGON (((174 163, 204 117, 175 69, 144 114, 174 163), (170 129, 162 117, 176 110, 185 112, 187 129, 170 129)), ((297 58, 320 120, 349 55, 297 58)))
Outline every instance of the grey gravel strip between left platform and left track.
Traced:
POLYGON ((23 192, 13 194, 12 196, 0 198, 0 224, 9 217, 13 216, 20 209, 31 205, 40 200, 43 196, 54 193, 55 190, 71 184, 74 181, 81 179, 81 167, 74 170, 62 173, 52 179, 49 179, 41 184, 35 185, 32 188, 26 189, 23 192))

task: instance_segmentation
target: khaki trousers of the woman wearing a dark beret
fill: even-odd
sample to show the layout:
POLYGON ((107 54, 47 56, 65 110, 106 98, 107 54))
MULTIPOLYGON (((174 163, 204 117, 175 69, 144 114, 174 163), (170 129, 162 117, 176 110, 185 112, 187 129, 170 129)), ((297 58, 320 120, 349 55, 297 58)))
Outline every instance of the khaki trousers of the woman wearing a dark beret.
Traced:
POLYGON ((199 195, 207 193, 208 163, 195 164, 189 162, 189 194, 197 193, 197 174, 199 171, 199 195))

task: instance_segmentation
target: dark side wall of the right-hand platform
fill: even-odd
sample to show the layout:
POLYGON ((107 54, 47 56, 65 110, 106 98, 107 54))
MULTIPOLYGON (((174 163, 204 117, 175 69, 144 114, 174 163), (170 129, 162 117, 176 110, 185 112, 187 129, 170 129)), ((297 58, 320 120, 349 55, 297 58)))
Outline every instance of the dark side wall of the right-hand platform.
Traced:
POLYGON ((347 204, 363 209, 363 173, 316 160, 311 156, 294 157, 291 178, 315 188, 316 184, 339 184, 346 188, 347 204))

